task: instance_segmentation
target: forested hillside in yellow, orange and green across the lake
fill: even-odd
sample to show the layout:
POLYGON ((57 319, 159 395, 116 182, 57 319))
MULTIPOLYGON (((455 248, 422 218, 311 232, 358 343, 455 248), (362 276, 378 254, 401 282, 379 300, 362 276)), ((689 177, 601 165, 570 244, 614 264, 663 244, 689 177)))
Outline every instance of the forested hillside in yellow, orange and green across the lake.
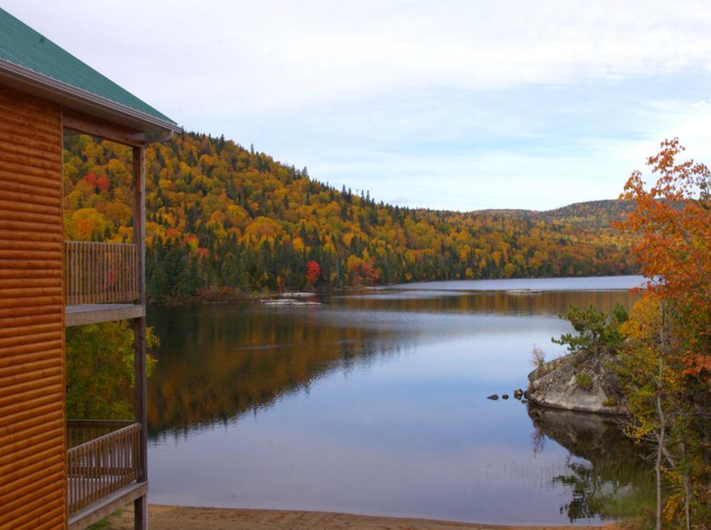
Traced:
MULTIPOLYGON (((65 138, 69 239, 131 238, 131 153, 65 138)), ((146 282, 153 300, 232 288, 637 271, 617 201, 548 212, 458 213, 376 203, 267 154, 204 134, 146 149, 146 282)), ((434 184, 433 184, 434 186, 434 184)), ((436 189, 433 189, 436 193, 436 189)))

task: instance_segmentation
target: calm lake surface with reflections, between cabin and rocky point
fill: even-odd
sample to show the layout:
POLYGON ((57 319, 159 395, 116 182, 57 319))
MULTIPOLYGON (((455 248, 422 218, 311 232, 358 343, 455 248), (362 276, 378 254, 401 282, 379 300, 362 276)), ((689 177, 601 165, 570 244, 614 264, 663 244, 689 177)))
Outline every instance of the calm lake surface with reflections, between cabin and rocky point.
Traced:
POLYGON ((633 514, 648 465, 595 415, 536 411, 533 344, 637 277, 429 282, 316 306, 153 308, 151 502, 502 524, 633 514), (506 292, 506 290, 543 292, 506 292), (607 289, 607 290, 606 290, 607 289))

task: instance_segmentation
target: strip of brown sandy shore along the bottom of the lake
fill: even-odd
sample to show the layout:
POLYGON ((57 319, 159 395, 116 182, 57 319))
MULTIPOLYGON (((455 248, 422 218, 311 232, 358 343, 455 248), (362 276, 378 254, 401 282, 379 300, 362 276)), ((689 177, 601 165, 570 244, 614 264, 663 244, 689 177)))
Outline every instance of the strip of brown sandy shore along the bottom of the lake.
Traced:
MULTIPOLYGON (((151 530, 613 530, 606 525, 501 525, 409 517, 149 504, 151 530)), ((133 509, 109 517, 106 530, 133 529, 133 509)))

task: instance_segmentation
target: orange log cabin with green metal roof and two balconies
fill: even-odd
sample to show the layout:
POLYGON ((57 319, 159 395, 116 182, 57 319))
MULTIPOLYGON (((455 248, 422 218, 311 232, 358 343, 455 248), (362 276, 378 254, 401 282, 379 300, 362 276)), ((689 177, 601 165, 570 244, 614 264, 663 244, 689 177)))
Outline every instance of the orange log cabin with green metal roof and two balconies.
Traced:
POLYGON ((0 530, 83 529, 134 504, 147 528, 146 145, 176 122, 0 9, 0 530), (133 153, 133 239, 65 240, 63 137, 133 153), (130 319, 131 421, 65 413, 65 327, 130 319))

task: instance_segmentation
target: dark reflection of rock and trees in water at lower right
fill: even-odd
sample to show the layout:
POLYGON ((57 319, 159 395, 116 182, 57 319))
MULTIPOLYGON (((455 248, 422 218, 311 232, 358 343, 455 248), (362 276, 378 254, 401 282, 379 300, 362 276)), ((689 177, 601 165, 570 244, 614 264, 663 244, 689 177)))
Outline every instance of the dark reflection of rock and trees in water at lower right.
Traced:
POLYGON ((560 513, 571 522, 596 516, 626 519, 653 509, 653 470, 639 447, 621 432, 619 420, 535 407, 530 407, 529 415, 535 427, 534 452, 542 451, 543 437, 570 452, 570 472, 552 480, 570 489, 572 499, 560 513))

